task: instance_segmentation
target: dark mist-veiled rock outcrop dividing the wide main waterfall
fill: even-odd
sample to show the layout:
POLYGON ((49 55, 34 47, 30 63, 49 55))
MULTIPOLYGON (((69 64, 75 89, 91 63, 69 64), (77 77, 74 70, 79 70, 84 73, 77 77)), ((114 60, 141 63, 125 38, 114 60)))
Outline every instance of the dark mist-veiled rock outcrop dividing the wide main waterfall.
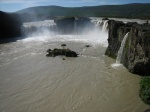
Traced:
POLYGON ((58 31, 62 34, 81 33, 86 29, 90 29, 94 24, 86 17, 68 17, 56 19, 58 31))

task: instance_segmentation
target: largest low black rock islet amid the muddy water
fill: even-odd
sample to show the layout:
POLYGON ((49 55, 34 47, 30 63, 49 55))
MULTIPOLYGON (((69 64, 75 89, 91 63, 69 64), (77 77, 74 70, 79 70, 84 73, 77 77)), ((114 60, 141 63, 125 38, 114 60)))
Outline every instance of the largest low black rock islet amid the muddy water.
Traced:
POLYGON ((70 49, 57 49, 54 48, 53 50, 48 49, 47 50, 47 57, 55 57, 55 56, 59 56, 59 55, 64 55, 66 57, 77 57, 78 54, 74 51, 71 51, 70 49))

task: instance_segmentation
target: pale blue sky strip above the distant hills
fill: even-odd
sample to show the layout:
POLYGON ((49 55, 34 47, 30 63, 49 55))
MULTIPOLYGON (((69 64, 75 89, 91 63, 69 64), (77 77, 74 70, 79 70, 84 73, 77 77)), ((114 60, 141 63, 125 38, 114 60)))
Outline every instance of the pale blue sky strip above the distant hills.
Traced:
POLYGON ((14 12, 33 6, 57 5, 64 7, 80 7, 127 3, 150 3, 150 0, 0 0, 0 10, 14 12))

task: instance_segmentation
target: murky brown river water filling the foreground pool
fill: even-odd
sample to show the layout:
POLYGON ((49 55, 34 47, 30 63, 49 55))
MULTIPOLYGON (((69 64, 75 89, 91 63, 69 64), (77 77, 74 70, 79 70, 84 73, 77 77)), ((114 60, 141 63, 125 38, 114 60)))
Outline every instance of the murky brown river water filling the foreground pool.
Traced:
POLYGON ((0 112, 144 111, 148 106, 138 97, 140 76, 112 68, 115 60, 104 55, 105 49, 72 40, 1 44, 0 112), (45 56, 62 43, 79 57, 45 56))

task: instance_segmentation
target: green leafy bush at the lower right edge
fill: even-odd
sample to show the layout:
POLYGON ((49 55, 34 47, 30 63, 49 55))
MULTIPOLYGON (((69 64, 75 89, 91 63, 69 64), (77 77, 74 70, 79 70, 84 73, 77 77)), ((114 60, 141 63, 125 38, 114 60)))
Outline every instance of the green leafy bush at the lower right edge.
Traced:
POLYGON ((140 97, 150 105, 150 76, 142 77, 140 82, 140 97))

